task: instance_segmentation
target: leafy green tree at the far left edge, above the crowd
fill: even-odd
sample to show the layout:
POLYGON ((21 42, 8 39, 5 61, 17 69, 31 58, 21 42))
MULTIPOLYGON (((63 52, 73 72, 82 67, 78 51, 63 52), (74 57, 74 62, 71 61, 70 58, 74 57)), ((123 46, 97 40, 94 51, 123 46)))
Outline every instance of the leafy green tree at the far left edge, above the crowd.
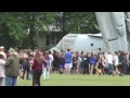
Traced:
POLYGON ((23 33, 23 22, 20 13, 1 12, 0 13, 0 36, 1 45, 9 47, 21 47, 23 33))

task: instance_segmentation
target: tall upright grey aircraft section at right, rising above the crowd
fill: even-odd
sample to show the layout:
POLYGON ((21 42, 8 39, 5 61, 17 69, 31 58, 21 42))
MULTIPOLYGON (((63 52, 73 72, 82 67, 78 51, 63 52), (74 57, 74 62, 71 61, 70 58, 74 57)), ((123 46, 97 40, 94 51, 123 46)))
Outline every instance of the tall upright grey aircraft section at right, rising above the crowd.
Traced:
POLYGON ((130 51, 130 12, 95 12, 107 49, 130 51))

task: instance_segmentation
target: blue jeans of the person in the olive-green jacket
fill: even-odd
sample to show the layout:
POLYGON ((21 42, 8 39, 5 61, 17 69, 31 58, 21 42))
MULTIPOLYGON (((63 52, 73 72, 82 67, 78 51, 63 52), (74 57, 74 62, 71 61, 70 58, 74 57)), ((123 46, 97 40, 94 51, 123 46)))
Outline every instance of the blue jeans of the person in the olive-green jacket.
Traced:
POLYGON ((11 75, 5 76, 5 86, 16 86, 16 82, 17 82, 17 76, 11 76, 11 75))

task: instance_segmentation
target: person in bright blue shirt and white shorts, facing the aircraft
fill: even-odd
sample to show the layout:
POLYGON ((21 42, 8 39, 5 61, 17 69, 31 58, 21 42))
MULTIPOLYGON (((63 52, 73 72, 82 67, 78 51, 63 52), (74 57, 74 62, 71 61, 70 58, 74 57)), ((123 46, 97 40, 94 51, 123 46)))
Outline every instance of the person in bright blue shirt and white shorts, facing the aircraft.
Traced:
POLYGON ((67 74, 70 74, 72 68, 73 68, 73 54, 70 52, 70 49, 67 49, 67 52, 65 53, 65 71, 67 74))

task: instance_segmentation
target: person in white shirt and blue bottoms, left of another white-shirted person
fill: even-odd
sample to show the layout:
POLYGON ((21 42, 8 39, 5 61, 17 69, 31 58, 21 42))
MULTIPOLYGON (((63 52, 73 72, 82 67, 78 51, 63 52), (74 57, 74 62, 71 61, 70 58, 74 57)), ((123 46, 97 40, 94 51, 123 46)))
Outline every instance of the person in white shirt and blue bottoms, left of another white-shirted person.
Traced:
POLYGON ((107 53, 107 62, 108 62, 108 74, 110 75, 112 73, 114 74, 114 59, 110 52, 107 53))

